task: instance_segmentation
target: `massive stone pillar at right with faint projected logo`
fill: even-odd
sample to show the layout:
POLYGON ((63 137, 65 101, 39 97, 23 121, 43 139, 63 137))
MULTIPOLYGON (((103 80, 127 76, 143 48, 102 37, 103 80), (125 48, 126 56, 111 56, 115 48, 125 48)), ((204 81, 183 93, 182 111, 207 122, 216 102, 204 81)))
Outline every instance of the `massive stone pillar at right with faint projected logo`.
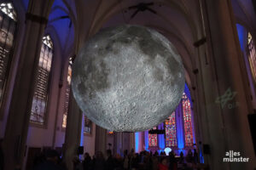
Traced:
POLYGON ((207 56, 200 56, 204 94, 198 105, 206 105, 201 111, 205 118, 201 121, 203 143, 211 149, 206 161, 211 169, 253 169, 256 161, 247 121, 252 106, 232 6, 230 0, 204 0, 202 10, 207 27, 207 56), (224 162, 224 157, 229 157, 225 152, 230 150, 249 157, 249 162, 224 162))

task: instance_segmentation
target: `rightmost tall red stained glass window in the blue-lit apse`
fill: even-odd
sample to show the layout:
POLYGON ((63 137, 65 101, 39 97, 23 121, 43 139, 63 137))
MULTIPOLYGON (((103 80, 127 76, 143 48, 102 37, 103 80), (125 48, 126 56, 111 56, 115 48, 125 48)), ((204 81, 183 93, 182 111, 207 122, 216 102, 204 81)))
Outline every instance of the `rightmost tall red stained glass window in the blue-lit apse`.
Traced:
POLYGON ((191 118, 190 101, 186 94, 183 93, 183 122, 185 146, 193 146, 193 128, 191 118))

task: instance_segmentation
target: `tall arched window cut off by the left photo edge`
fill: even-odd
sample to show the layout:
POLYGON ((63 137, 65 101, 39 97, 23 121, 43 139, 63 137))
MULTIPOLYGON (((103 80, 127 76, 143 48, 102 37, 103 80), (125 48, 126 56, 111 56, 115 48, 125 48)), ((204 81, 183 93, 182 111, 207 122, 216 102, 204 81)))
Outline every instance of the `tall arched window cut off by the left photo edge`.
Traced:
POLYGON ((16 29, 16 13, 12 3, 0 4, 0 105, 9 74, 16 29))

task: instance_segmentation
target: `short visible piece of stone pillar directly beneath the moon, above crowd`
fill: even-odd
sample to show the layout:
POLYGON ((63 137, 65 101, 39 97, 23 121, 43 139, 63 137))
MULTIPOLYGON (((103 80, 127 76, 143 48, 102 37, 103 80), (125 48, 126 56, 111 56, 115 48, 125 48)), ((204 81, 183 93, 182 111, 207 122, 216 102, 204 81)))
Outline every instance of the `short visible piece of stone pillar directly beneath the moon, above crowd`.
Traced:
POLYGON ((107 130, 96 125, 96 140, 95 140, 95 151, 102 151, 102 154, 106 155, 107 150, 107 130))

